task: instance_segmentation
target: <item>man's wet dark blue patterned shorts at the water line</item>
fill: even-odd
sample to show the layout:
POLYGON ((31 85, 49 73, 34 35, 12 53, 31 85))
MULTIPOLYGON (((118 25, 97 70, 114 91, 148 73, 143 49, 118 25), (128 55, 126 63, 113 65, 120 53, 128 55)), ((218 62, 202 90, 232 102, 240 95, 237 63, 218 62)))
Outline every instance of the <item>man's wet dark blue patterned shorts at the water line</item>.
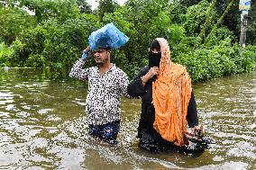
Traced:
POLYGON ((120 121, 113 121, 103 125, 89 124, 89 135, 104 140, 109 144, 117 144, 117 134, 120 129, 120 121))

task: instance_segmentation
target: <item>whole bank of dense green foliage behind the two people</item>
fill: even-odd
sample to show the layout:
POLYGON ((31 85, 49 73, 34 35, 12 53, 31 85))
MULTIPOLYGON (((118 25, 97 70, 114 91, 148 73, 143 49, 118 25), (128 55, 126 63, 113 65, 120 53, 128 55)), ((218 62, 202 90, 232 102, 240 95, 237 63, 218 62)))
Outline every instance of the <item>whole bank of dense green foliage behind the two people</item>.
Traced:
MULTIPOLYGON (((172 61, 185 65, 194 82, 256 70, 256 47, 241 49, 237 32, 221 23, 226 20, 222 13, 229 15, 228 2, 221 11, 209 2, 128 0, 120 6, 113 0, 101 0, 91 13, 85 0, 1 1, 5 8, 0 7, 0 13, 8 14, 0 18, 0 40, 4 41, 0 65, 45 68, 52 78, 65 78, 87 47, 90 33, 114 22, 130 40, 112 51, 112 61, 130 78, 147 65, 149 44, 157 37, 169 41, 172 61), (18 7, 27 7, 35 15, 18 7)), ((254 16, 250 15, 248 29, 251 44, 255 44, 254 16)), ((89 58, 87 67, 92 65, 94 59, 89 58)))

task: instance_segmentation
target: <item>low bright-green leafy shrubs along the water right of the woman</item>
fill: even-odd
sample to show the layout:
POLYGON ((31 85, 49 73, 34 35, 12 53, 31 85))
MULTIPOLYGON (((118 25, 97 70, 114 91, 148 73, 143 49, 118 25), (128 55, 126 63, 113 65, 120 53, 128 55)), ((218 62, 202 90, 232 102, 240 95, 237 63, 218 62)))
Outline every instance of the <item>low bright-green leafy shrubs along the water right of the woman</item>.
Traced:
POLYGON ((255 46, 242 49, 225 39, 213 48, 196 49, 179 54, 176 61, 187 66, 194 82, 213 77, 250 72, 256 68, 255 46))

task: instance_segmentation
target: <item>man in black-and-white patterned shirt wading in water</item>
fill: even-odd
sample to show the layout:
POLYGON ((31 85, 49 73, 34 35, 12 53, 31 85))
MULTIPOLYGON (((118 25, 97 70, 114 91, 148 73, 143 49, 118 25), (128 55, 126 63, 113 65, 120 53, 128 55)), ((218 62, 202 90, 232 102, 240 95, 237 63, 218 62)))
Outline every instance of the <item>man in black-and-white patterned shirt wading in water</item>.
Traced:
MULTIPOLYGON (((106 25, 108 26, 108 25, 106 25)), ((113 25, 110 25, 112 29, 113 25)), ((104 27, 105 28, 105 27, 104 27)), ((110 30, 112 31, 112 30, 110 30)), ((114 30, 116 31, 116 30, 114 30)), ((109 32, 109 31, 106 31, 109 32)), ((117 144, 120 127, 120 98, 128 96, 128 76, 119 67, 110 62, 113 36, 96 34, 94 49, 87 47, 82 58, 72 67, 69 76, 88 81, 87 91, 87 123, 89 135, 104 140, 109 144, 117 144), (96 67, 83 68, 92 50, 96 67)), ((118 32, 120 33, 120 32, 118 32)), ((118 44, 120 45, 120 44, 118 44)), ((116 47, 115 47, 116 49, 116 47)))

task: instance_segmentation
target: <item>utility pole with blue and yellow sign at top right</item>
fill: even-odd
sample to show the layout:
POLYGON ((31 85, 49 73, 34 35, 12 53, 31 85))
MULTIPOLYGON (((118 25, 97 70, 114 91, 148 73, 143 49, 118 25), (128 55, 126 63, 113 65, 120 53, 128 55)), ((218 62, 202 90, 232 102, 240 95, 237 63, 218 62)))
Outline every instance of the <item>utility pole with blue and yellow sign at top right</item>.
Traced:
POLYGON ((239 9, 242 11, 241 13, 241 32, 240 32, 240 45, 242 48, 245 47, 246 40, 246 28, 248 22, 248 11, 251 7, 251 0, 240 0, 239 9))

